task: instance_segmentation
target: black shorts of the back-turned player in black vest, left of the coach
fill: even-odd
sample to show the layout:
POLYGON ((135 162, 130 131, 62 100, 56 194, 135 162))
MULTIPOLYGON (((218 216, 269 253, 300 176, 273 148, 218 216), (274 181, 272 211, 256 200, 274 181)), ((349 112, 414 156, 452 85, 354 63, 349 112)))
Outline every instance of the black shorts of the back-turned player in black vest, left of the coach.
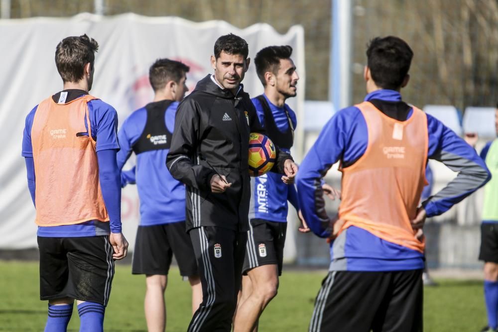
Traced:
POLYGON ((185 221, 138 226, 131 273, 167 275, 175 255, 184 277, 196 276, 197 262, 185 221))

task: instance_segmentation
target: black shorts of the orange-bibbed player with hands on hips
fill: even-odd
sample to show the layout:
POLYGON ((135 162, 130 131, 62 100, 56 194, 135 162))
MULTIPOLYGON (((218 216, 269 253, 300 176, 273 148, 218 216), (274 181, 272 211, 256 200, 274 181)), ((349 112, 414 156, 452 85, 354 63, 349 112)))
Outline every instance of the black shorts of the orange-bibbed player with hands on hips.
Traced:
POLYGON ((329 272, 309 332, 422 331, 422 270, 329 272))

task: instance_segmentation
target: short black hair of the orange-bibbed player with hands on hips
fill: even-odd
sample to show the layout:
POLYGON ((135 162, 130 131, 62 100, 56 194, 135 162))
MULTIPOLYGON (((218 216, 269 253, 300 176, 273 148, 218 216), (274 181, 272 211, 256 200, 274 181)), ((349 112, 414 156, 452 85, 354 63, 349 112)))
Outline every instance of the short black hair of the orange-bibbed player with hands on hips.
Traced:
POLYGON ((375 85, 397 90, 410 70, 413 51, 401 38, 375 37, 367 49, 368 67, 375 85))

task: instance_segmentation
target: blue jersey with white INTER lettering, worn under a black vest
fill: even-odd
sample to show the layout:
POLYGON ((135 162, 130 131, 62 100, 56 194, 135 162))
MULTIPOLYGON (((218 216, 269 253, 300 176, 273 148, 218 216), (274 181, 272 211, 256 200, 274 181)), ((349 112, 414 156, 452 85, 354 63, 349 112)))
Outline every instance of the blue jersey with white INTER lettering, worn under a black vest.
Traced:
MULTIPOLYGON (((282 133, 289 128, 289 114, 292 122, 292 127, 295 129, 297 125, 296 113, 292 111, 288 105, 283 108, 273 105, 266 95, 263 95, 268 103, 275 124, 282 133), (286 112, 287 111, 287 114, 286 112)), ((251 99, 254 108, 256 109, 257 117, 263 127, 265 125, 265 114, 263 107, 257 98, 251 99)), ((280 147, 285 152, 289 150, 280 147)), ((299 211, 299 203, 297 201, 297 193, 294 185, 286 185, 281 180, 282 174, 268 172, 259 177, 251 178, 251 199, 249 206, 250 219, 264 219, 269 221, 287 222, 287 213, 289 201, 292 206, 299 211)))

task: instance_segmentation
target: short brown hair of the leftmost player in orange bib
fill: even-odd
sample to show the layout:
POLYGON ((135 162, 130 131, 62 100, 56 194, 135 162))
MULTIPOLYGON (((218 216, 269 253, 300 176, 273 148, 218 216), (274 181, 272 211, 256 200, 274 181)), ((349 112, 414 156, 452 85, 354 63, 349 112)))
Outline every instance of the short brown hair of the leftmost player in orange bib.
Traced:
POLYGON ((62 39, 55 49, 55 65, 63 82, 78 82, 85 74, 85 65, 94 66, 99 44, 86 34, 62 39))

